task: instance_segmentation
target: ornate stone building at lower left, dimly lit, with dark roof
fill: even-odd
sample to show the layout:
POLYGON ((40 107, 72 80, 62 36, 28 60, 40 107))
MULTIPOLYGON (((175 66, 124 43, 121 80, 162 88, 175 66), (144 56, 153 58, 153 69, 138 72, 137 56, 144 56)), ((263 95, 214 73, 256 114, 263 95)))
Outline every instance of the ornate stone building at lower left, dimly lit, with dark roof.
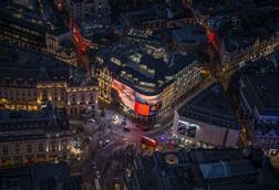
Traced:
POLYGON ((64 109, 50 104, 37 112, 0 110, 0 167, 71 157, 71 130, 64 109))

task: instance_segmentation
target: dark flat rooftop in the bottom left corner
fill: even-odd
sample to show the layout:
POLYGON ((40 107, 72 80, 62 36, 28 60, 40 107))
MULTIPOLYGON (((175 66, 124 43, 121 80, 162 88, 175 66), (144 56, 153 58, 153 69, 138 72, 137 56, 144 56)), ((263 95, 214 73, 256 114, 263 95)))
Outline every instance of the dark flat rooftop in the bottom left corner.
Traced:
POLYGON ((30 167, 0 169, 0 189, 44 189, 62 184, 63 189, 81 190, 80 176, 70 175, 69 166, 60 163, 35 163, 30 167), (68 188, 66 188, 68 187, 68 188))

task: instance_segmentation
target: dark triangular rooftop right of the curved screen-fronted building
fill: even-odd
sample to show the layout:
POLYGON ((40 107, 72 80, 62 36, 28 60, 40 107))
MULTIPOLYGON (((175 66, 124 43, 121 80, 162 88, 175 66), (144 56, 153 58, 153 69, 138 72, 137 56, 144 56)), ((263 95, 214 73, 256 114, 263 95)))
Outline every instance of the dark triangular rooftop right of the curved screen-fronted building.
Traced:
POLYGON ((231 108, 225 89, 214 83, 188 101, 178 110, 183 117, 219 127, 240 130, 240 124, 231 108))

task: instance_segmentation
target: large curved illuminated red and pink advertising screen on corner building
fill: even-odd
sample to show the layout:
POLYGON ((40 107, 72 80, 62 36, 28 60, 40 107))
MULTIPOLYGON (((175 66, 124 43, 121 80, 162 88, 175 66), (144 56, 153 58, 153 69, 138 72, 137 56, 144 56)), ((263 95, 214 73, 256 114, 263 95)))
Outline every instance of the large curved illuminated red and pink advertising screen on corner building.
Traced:
POLYGON ((161 108, 161 95, 146 96, 140 94, 117 80, 113 80, 112 87, 117 92, 120 102, 137 115, 156 115, 161 108))

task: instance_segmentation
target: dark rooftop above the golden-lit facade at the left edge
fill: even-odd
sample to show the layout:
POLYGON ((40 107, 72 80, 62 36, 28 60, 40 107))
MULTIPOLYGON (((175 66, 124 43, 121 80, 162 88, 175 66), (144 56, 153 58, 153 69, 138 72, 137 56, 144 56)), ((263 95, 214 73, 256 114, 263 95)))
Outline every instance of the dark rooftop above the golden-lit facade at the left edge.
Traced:
POLYGON ((0 85, 33 87, 37 82, 68 81, 71 66, 53 55, 0 43, 0 85), (19 72, 21 71, 21 72, 19 72))

